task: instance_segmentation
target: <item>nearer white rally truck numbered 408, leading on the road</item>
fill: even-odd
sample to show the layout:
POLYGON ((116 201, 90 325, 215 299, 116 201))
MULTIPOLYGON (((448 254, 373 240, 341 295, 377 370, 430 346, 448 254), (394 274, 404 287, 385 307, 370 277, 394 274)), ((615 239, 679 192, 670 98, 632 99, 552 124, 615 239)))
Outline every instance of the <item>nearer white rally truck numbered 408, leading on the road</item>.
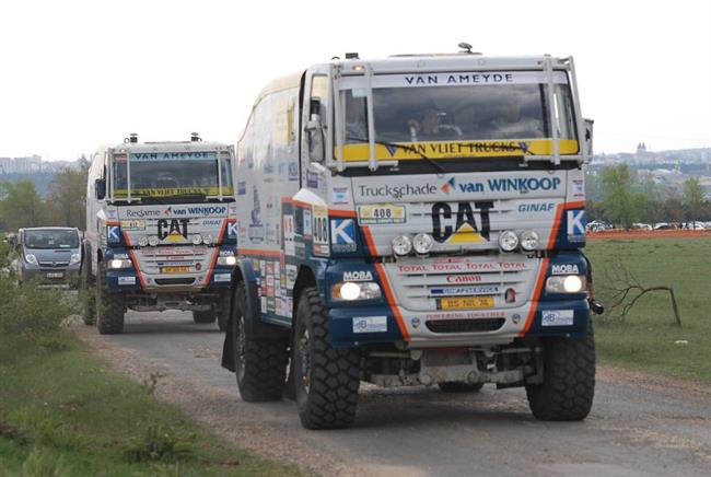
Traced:
POLYGON ((361 381, 492 383, 585 418, 591 144, 572 58, 350 55, 269 84, 237 143, 222 364, 242 398, 281 398, 289 372, 320 429, 352 424, 361 381))

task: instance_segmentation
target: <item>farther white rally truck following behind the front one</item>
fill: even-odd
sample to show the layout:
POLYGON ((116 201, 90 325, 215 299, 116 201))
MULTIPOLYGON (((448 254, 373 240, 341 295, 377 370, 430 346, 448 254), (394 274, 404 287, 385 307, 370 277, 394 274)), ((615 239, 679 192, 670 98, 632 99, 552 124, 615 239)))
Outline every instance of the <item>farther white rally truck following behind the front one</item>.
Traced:
POLYGON ((191 311, 225 329, 236 263, 234 148, 189 141, 123 143, 92 156, 81 287, 84 322, 121 333, 124 314, 191 311))

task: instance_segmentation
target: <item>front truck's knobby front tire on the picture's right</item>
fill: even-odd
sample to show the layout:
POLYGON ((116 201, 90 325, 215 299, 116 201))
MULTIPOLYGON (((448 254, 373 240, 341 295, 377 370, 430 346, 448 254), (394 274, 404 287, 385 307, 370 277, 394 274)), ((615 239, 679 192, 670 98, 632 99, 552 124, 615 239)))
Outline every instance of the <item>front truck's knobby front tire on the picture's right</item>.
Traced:
POLYGON ((582 339, 544 342, 544 382, 526 385, 536 419, 576 421, 587 417, 595 394, 595 337, 592 322, 582 339))

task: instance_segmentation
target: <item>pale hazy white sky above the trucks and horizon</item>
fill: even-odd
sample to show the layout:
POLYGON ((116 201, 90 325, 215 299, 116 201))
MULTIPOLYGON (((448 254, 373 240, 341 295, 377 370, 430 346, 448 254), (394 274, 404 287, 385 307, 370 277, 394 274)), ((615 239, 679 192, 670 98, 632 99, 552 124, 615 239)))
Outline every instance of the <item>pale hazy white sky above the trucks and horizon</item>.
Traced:
POLYGON ((572 55, 596 152, 711 147, 711 2, 0 0, 0 156, 234 143, 275 77, 359 51, 572 55))

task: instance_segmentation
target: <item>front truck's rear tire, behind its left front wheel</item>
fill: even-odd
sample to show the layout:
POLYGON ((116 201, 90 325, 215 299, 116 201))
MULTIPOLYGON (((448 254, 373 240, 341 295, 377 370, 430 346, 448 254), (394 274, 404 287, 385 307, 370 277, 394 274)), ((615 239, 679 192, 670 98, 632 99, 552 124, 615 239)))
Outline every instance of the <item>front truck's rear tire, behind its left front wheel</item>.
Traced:
POLYGON ((257 340, 245 316, 253 316, 244 282, 234 292, 232 333, 234 369, 242 399, 248 403, 281 399, 287 379, 288 340, 257 340))

